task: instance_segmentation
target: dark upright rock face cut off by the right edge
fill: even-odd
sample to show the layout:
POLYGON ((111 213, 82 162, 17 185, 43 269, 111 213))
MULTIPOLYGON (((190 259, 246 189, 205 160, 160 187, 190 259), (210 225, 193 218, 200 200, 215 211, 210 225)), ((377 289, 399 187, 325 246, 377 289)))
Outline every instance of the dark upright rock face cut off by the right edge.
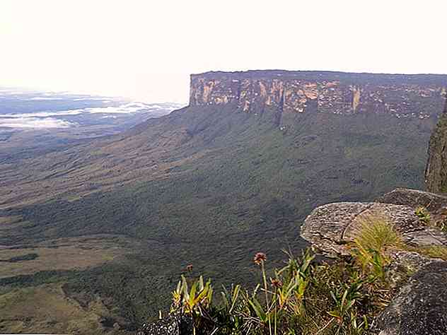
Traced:
POLYGON ((447 102, 430 138, 425 180, 430 192, 447 193, 447 102))

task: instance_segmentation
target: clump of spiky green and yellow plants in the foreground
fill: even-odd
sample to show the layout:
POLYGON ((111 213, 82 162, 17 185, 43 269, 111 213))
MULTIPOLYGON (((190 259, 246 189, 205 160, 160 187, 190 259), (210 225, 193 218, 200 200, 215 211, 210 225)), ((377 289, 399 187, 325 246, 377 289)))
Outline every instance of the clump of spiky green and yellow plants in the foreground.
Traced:
POLYGON ((405 245, 385 218, 371 216, 361 222, 350 249, 352 257, 330 263, 315 262, 309 250, 301 257, 288 253, 286 265, 274 271, 258 252, 257 286, 223 288, 219 302, 211 281, 182 276, 171 312, 190 315, 195 334, 368 334, 373 318, 410 275, 388 267, 390 252, 405 245), (396 271, 400 282, 391 278, 396 271))

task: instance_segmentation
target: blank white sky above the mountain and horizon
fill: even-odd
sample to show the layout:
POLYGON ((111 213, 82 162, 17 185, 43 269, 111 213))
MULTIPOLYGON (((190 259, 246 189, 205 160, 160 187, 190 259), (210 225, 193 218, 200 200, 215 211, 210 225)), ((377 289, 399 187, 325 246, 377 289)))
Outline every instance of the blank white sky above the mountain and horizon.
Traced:
POLYGON ((0 0, 0 86, 187 102, 189 75, 447 74, 445 0, 0 0))

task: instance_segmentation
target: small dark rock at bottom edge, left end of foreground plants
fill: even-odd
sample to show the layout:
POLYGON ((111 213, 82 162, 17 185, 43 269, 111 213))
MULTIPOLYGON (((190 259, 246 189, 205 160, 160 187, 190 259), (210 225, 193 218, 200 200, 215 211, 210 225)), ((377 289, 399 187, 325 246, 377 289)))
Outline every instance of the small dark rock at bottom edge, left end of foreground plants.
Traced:
POLYGON ((163 319, 143 324, 137 335, 190 335, 192 319, 185 315, 168 315, 163 319))

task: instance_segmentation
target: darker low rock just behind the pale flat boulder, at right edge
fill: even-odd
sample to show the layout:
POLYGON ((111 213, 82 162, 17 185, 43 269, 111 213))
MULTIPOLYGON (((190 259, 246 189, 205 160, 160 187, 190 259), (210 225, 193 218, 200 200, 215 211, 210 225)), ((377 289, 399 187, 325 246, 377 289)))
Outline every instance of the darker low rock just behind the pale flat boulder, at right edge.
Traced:
POLYGON ((441 196, 418 189, 395 189, 376 199, 383 204, 405 205, 412 208, 426 207, 429 211, 436 211, 447 206, 447 196, 441 196))

